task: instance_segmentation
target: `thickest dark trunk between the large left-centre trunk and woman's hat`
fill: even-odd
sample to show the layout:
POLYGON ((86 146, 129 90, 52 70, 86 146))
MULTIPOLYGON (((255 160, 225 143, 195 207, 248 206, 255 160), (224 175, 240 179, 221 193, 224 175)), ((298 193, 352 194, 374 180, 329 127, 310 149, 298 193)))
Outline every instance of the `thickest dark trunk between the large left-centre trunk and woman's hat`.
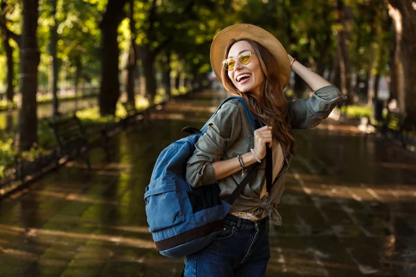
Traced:
POLYGON ((146 98, 153 103, 156 96, 156 74, 155 74, 155 53, 150 51, 150 45, 144 44, 139 46, 141 69, 144 76, 146 87, 146 98))

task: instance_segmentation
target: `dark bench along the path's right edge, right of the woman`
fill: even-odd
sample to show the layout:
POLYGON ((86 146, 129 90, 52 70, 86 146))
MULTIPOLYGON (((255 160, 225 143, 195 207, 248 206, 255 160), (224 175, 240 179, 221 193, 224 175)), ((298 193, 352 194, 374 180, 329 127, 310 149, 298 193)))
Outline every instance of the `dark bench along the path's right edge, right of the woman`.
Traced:
MULTIPOLYGON (((385 139, 397 140, 401 143, 402 147, 406 148, 407 143, 404 132, 406 132, 408 127, 408 116, 404 116, 403 114, 394 111, 388 111, 387 116, 383 118, 383 122, 379 125, 372 123, 368 117, 366 121, 367 129, 373 128, 385 139)), ((365 139, 367 139, 368 134, 368 132, 365 134, 365 139)))

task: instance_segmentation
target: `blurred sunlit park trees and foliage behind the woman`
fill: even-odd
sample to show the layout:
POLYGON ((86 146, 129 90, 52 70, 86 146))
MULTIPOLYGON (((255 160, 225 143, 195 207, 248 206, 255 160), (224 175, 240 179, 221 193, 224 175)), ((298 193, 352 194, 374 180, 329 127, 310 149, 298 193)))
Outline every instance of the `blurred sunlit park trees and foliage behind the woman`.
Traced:
MULTIPOLYGON (((401 113, 416 114, 408 77, 416 75, 415 9, 414 0, 1 0, 0 110, 31 109, 19 111, 19 136, 2 139, 0 161, 10 160, 9 150, 50 142, 40 138, 37 104, 52 103, 58 116, 64 100, 97 98, 79 115, 103 123, 123 114, 121 102, 146 107, 202 86, 214 35, 238 23, 270 31, 336 84, 352 117, 393 98, 401 113), (28 69, 37 83, 26 79, 28 69)), ((311 91, 293 75, 286 92, 311 91)))

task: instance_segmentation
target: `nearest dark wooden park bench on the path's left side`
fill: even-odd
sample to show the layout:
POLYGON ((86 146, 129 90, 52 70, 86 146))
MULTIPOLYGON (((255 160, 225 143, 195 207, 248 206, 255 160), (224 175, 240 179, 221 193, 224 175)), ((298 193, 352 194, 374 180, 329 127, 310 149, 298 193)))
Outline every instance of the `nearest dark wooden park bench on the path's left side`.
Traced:
POLYGON ((98 137, 87 136, 85 128, 80 119, 74 114, 68 118, 60 118, 58 120, 49 121, 49 126, 53 129, 56 140, 59 145, 59 154, 67 155, 70 159, 83 157, 89 169, 91 162, 89 160, 89 150, 95 147, 103 148, 107 160, 110 154, 107 150, 107 134, 103 130, 98 137))

